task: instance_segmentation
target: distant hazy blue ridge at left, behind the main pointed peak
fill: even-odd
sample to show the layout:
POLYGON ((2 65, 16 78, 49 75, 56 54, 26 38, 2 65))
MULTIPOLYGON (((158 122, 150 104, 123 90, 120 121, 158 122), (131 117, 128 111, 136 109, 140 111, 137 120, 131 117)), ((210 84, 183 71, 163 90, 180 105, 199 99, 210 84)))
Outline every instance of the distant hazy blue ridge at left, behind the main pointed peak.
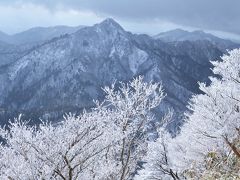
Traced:
POLYGON ((72 34, 84 26, 36 27, 14 35, 0 31, 0 67, 7 66, 54 38, 72 34))

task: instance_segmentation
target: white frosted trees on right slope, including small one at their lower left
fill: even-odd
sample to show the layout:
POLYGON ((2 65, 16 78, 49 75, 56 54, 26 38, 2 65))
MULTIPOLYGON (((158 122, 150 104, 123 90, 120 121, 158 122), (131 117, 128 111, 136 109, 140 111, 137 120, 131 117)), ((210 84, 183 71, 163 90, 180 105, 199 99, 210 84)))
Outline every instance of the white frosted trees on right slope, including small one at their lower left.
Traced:
POLYGON ((218 78, 200 83, 180 134, 150 144, 143 179, 240 179, 240 49, 212 63, 218 78))

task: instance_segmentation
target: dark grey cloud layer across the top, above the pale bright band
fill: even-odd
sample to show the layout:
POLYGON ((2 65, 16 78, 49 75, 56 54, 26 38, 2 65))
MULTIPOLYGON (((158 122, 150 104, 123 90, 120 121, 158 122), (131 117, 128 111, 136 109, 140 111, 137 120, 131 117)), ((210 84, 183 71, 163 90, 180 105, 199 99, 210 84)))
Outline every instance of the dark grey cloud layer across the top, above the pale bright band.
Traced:
POLYGON ((41 4, 53 11, 58 8, 90 10, 132 22, 159 19, 182 26, 240 34, 239 0, 5 0, 5 3, 9 2, 41 4))

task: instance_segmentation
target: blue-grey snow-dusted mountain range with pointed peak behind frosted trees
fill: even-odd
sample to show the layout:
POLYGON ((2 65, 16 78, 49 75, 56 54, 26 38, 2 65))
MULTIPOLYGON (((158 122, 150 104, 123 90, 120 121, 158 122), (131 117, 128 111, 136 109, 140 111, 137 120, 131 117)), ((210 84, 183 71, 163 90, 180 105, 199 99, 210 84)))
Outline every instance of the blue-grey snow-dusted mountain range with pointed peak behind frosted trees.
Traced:
POLYGON ((175 130, 189 98, 201 93, 197 82, 210 82, 210 60, 239 47, 204 32, 195 38, 184 34, 181 39, 173 32, 132 34, 113 19, 36 40, 34 46, 23 38, 19 47, 0 34, 1 124, 19 113, 33 123, 59 120, 66 112, 93 107, 93 99, 104 96, 101 87, 142 75, 146 81, 162 82, 167 97, 154 113, 160 119, 173 109, 175 130))

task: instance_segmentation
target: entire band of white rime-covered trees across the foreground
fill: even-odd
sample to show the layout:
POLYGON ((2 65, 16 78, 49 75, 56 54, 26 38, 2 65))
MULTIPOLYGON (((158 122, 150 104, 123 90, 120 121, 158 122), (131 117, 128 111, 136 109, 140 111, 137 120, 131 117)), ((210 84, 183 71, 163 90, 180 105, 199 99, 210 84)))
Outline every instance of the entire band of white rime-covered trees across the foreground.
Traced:
POLYGON ((165 95, 139 77, 104 88, 102 103, 58 125, 18 118, 1 128, 0 179, 240 179, 240 49, 212 63, 216 77, 199 84, 203 94, 192 97, 176 137, 163 125, 147 141, 151 109, 165 95))

